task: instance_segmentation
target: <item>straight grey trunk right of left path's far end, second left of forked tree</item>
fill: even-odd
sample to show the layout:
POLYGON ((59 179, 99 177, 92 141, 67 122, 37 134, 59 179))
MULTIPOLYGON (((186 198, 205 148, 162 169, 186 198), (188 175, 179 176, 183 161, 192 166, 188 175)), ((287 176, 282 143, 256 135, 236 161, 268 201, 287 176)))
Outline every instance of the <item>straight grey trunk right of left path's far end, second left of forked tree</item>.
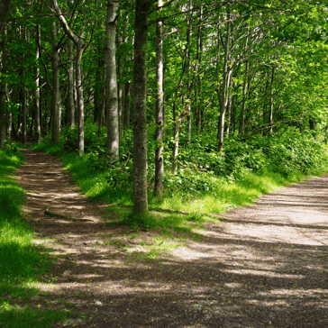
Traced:
POLYGON ((51 30, 52 41, 52 99, 51 99, 51 141, 60 142, 60 92, 59 92, 59 51, 57 48, 56 36, 57 26, 52 22, 51 30))

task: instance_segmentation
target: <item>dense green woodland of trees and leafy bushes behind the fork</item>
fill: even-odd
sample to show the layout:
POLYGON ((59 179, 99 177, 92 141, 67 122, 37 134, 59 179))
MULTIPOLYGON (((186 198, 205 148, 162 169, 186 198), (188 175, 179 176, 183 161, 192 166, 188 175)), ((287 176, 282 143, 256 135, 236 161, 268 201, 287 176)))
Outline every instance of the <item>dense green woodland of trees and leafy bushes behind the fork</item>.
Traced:
POLYGON ((150 191, 190 202, 323 169, 326 5, 2 0, 0 147, 77 154, 134 215, 150 191))

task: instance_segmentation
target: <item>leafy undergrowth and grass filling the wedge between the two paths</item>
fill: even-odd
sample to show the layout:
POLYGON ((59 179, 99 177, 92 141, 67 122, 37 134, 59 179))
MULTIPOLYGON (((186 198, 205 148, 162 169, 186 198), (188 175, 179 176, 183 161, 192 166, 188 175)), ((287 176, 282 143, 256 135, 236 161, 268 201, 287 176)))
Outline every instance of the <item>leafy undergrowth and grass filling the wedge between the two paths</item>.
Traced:
MULTIPOLYGON (((75 145, 77 131, 64 129, 62 142, 45 142, 34 146, 59 156, 82 191, 95 201, 119 205, 121 220, 113 224, 129 224, 146 229, 162 228, 192 232, 195 215, 209 220, 206 214, 223 214, 236 206, 251 204, 260 195, 279 187, 318 175, 328 168, 327 148, 308 133, 289 128, 280 134, 256 135, 248 139, 231 137, 220 153, 217 140, 210 133, 197 136, 191 143, 181 142, 178 172, 170 173, 172 143, 165 141, 165 191, 152 195, 154 182, 154 150, 156 144, 149 133, 149 205, 150 214, 132 215, 132 132, 120 141, 120 160, 112 163, 105 149, 105 130, 97 137, 96 125, 86 123, 86 154, 79 158, 75 145), (123 206, 130 206, 123 209, 123 206), (183 214, 182 212, 187 212, 183 214)), ((211 219, 212 220, 212 219, 211 219)), ((197 221, 197 220, 196 220, 197 221)))

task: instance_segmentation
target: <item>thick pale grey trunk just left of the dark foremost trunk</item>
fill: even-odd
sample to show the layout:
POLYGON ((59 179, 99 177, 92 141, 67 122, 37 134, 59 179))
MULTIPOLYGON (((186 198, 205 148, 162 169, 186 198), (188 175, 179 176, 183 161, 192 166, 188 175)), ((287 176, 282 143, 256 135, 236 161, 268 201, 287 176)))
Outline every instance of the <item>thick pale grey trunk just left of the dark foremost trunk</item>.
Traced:
POLYGON ((115 59, 115 33, 117 19, 117 4, 108 3, 105 30, 105 63, 106 63, 106 122, 107 142, 106 148, 111 158, 119 156, 119 117, 117 99, 117 77, 115 59))

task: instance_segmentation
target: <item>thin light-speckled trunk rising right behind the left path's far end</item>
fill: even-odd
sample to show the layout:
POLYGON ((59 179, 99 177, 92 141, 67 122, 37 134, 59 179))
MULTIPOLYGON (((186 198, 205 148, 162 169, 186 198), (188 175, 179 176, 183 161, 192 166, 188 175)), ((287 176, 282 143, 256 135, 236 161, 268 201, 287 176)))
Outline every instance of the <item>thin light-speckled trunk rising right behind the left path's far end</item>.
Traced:
POLYGON ((35 91, 34 91, 34 141, 41 144, 41 121, 40 121, 40 24, 36 25, 36 66, 35 66, 35 91))

